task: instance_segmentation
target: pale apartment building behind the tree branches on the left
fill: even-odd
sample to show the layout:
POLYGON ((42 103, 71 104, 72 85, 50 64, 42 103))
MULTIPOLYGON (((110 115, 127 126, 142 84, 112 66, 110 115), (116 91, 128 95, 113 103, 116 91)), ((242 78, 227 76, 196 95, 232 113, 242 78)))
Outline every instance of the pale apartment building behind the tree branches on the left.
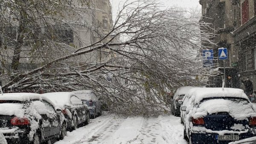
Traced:
MULTIPOLYGON (((63 48, 63 51, 60 49, 45 51, 46 56, 55 57, 54 54, 61 56, 61 54, 67 54, 67 52, 72 53, 73 48, 81 48, 83 46, 89 45, 93 42, 100 40, 100 38, 108 34, 113 27, 112 20, 112 6, 109 0, 86 0, 86 3, 81 3, 79 0, 70 0, 68 3, 71 7, 72 5, 76 6, 76 9, 73 11, 64 11, 60 17, 65 17, 66 20, 69 20, 70 23, 74 23, 73 28, 65 28, 65 25, 57 25, 55 29, 56 35, 61 39, 60 42, 70 45, 68 48, 63 48), (85 26, 86 25, 86 26, 85 26), (65 53, 66 52, 66 53, 65 53)), ((2 10, 0 8, 0 10, 2 10)), ((11 17, 11 16, 10 16, 11 17)), ((10 18, 11 19, 11 18, 10 18)), ((12 22, 10 22, 12 23, 12 22)), ((54 27, 54 25, 53 25, 54 27)), ((15 40, 18 34, 19 25, 12 23, 12 25, 7 28, 6 33, 15 40)), ((35 33, 40 33, 42 35, 46 34, 47 27, 43 27, 35 31, 35 33)), ((46 34, 47 35, 47 34, 46 34)), ((1 33, 0 33, 1 38, 1 33)), ((10 40, 12 42, 12 40, 10 40)), ((15 45, 8 43, 9 48, 3 48, 0 45, 0 60, 5 62, 5 65, 0 64, 0 71, 10 71, 12 56, 14 55, 12 48, 15 45)), ((0 40, 1 43, 1 40, 0 40)), ((3 45, 2 45, 3 46, 3 45)), ((30 45, 22 45, 20 53, 20 64, 18 69, 35 69, 44 63, 44 59, 40 57, 28 58, 31 55, 32 47, 30 45)), ((109 54, 106 54, 101 51, 91 52, 90 54, 84 54, 77 56, 74 59, 77 62, 77 65, 84 65, 90 62, 101 61, 102 59, 108 59, 109 54)), ((5 73, 6 73, 5 72, 5 73)))

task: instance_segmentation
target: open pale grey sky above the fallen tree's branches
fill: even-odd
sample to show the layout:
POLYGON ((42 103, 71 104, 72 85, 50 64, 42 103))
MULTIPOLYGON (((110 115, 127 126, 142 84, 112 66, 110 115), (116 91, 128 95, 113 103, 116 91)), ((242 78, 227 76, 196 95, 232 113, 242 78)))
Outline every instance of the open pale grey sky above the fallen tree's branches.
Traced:
MULTIPOLYGON (((119 3, 125 0, 110 0, 113 6, 113 18, 115 19, 116 12, 118 10, 119 3)), ((159 0, 159 2, 163 3, 164 5, 170 6, 178 6, 183 8, 200 8, 201 5, 199 4, 199 0, 159 0)))

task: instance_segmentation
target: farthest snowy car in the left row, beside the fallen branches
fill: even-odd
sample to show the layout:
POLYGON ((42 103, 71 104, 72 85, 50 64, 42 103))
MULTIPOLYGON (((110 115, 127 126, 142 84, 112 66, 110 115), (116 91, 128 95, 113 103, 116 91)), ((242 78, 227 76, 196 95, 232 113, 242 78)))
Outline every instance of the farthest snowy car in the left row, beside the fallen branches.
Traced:
POLYGON ((84 104, 87 104, 90 111, 90 118, 95 119, 102 115, 102 104, 92 90, 76 90, 73 91, 84 104))

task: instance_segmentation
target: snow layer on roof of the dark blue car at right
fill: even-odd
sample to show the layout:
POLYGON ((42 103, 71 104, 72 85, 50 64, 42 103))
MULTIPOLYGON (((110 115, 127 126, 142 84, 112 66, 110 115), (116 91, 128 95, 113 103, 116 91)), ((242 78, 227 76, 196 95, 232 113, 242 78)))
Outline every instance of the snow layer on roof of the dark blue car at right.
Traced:
POLYGON ((192 88, 186 93, 186 96, 194 99, 195 104, 206 98, 214 97, 234 97, 248 99, 244 90, 238 88, 192 88))

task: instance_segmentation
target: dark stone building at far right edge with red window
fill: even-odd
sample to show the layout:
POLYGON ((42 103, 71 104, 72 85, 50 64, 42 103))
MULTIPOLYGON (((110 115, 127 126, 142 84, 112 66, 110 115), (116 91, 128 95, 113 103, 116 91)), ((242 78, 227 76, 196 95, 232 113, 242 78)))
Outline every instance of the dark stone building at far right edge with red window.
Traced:
POLYGON ((239 0, 240 25, 233 31, 241 79, 250 77, 256 91, 256 0, 239 0))

